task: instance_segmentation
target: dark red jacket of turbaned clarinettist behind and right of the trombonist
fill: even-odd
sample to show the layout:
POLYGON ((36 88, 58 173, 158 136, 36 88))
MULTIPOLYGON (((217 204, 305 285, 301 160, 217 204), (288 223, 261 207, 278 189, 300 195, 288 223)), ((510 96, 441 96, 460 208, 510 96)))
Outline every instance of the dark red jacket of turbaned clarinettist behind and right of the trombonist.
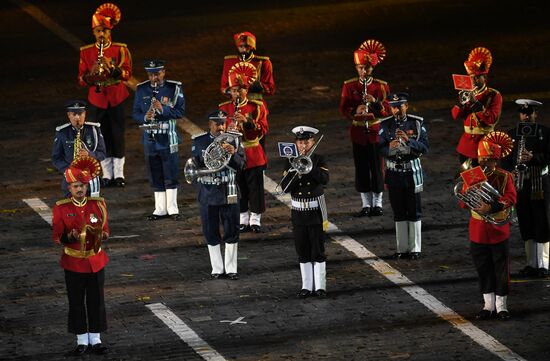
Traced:
POLYGON ((374 119, 369 120, 367 131, 364 121, 354 120, 355 110, 363 104, 363 85, 359 82, 359 78, 352 78, 344 82, 340 98, 340 113, 351 120, 349 133, 353 143, 367 145, 378 142, 380 118, 391 115, 390 105, 386 100, 389 93, 390 86, 383 80, 373 79, 367 85, 367 94, 371 94, 379 102, 378 105, 369 107, 369 112, 372 113, 374 119))

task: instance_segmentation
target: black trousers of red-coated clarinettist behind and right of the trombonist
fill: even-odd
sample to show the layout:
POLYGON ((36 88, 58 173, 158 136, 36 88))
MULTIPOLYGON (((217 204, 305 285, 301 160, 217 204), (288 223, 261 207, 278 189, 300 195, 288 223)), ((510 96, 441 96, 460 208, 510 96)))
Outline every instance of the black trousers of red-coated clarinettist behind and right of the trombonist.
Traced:
POLYGON ((355 190, 357 192, 381 193, 384 191, 382 157, 378 154, 376 144, 353 145, 353 162, 355 163, 355 190))

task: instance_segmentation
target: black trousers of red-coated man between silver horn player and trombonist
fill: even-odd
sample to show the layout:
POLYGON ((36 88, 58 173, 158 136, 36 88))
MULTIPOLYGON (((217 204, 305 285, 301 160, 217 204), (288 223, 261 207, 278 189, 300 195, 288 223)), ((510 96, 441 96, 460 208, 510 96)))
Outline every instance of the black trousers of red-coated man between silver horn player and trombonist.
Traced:
POLYGON ((264 167, 245 169, 237 173, 241 190, 241 212, 265 212, 264 167))

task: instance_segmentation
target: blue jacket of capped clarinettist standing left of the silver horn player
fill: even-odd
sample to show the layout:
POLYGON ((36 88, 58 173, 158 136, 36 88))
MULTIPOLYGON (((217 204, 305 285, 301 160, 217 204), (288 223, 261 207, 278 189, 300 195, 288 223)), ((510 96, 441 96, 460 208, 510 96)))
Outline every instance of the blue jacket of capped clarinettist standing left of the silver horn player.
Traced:
MULTIPOLYGON (((145 124, 145 113, 151 107, 153 88, 149 80, 138 84, 134 98, 132 116, 138 124, 145 124)), ((162 114, 156 114, 155 120, 159 123, 160 129, 146 129, 143 132, 142 143, 145 154, 175 153, 178 151, 178 144, 181 142, 176 127, 176 119, 185 115, 185 97, 181 83, 178 81, 165 80, 158 86, 158 93, 155 98, 162 103, 162 114), (155 141, 150 140, 149 134, 154 134, 155 141)))

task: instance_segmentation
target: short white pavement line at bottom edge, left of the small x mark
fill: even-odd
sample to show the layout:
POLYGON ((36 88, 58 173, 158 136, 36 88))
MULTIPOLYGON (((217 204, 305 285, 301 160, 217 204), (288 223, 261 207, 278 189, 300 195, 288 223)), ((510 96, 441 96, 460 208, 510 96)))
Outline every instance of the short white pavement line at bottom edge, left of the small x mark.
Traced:
POLYGON ((208 361, 225 361, 225 358, 199 337, 189 326, 162 303, 145 305, 166 326, 188 344, 199 356, 208 361))

